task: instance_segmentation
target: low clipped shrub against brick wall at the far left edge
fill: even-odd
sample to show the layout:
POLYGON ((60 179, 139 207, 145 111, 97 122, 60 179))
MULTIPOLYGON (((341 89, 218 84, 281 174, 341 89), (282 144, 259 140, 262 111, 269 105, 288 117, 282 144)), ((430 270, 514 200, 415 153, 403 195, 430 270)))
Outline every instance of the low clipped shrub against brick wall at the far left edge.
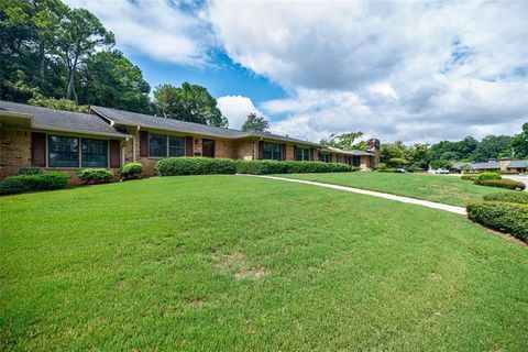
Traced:
POLYGON ((68 185, 68 175, 61 172, 40 175, 8 176, 3 182, 0 182, 0 195, 61 189, 68 185))

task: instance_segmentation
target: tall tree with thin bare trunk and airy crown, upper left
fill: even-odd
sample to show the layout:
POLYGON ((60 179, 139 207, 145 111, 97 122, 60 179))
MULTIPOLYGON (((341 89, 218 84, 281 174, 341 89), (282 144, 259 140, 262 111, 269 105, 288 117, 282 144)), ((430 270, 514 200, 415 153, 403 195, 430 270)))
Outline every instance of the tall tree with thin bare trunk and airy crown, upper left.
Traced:
POLYGON ((116 43, 113 33, 107 31, 98 18, 86 9, 73 9, 66 14, 61 26, 57 54, 68 70, 66 99, 77 102, 75 87, 79 65, 97 48, 112 46, 116 43))

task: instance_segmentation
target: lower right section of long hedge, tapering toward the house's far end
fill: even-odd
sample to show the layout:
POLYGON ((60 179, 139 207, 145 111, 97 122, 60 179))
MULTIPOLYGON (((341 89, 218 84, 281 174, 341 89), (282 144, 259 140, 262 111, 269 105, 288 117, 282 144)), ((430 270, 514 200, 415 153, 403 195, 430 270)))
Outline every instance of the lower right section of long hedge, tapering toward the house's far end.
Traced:
POLYGON ((353 167, 346 164, 324 162, 239 161, 237 163, 237 173, 252 175, 350 173, 359 169, 359 167, 353 167))

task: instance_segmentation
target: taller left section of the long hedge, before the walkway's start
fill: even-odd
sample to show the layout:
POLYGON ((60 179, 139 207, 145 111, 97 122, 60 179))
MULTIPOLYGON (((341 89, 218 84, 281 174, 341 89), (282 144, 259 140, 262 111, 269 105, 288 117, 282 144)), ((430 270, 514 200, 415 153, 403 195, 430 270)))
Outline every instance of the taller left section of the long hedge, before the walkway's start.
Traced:
POLYGON ((167 157, 156 164, 160 176, 234 174, 237 162, 230 158, 167 157))

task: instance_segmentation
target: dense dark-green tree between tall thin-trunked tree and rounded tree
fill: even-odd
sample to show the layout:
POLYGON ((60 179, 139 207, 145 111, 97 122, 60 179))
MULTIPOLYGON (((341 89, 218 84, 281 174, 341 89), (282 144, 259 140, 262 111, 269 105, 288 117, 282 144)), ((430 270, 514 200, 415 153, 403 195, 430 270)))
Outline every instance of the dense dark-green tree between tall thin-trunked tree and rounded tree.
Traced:
POLYGON ((120 51, 91 55, 79 76, 80 103, 150 112, 151 87, 143 79, 141 69, 120 51))

